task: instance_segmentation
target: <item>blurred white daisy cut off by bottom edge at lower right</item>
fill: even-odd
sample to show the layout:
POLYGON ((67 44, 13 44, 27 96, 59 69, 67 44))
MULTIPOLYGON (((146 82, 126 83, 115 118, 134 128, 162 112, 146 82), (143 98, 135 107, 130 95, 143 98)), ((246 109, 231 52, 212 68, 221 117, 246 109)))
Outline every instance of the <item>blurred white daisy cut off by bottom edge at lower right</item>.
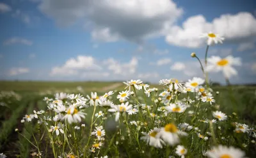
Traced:
POLYGON ((243 158, 244 152, 233 146, 216 146, 212 150, 207 151, 207 156, 210 158, 243 158))

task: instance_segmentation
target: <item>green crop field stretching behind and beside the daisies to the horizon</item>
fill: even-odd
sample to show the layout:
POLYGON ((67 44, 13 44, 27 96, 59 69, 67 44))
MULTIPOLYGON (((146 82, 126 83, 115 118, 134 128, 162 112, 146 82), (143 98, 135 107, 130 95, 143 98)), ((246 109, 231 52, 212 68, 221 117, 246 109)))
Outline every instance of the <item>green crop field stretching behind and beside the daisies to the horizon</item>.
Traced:
MULTIPOLYGON (((81 93, 86 96, 90 95, 90 91, 97 91, 99 95, 103 95, 108 91, 119 91, 125 88, 122 83, 40 83, 40 82, 4 82, 0 83, 0 153, 4 153, 8 157, 33 157, 33 153, 37 150, 35 139, 39 139, 43 157, 54 157, 51 151, 51 141, 45 138, 45 132, 40 131, 40 125, 37 122, 31 122, 26 128, 20 120, 26 114, 33 113, 33 110, 47 110, 47 104, 43 100, 44 97, 54 98, 57 92, 81 93), (19 130, 15 132, 15 129, 19 130), (44 139, 43 139, 44 138, 44 139), (29 143, 31 141, 31 143, 29 143)), ((154 85, 158 86, 158 85, 154 85)), ((159 87, 159 86, 158 86, 159 87)), ((219 91, 218 95, 214 95, 216 104, 221 105, 220 110, 225 111, 227 115, 236 115, 243 123, 250 127, 255 126, 256 118, 256 88, 252 86, 219 86, 213 87, 214 91, 219 91), (236 114, 235 114, 236 113, 236 114)), ((159 87, 159 91, 160 87, 159 87)), ((117 92, 116 92, 117 93, 117 92)), ((92 113, 92 108, 88 108, 86 113, 92 113)), ((90 125, 90 118, 84 122, 90 125)), ((113 133, 112 133, 113 134, 113 133)), ((115 145, 118 146, 118 145, 115 145)), ((243 144, 237 145, 243 148, 243 144)), ((255 155, 255 143, 246 144, 247 154, 250 157, 255 155)), ((148 148, 150 149, 150 148, 148 148)), ((128 151, 124 148, 117 148, 119 154, 113 154, 106 150, 106 154, 115 155, 116 157, 129 157, 128 151), (109 152, 109 153, 108 153, 109 152)), ((147 150, 147 148, 146 148, 147 150)), ((152 150, 152 148, 150 149, 152 150)), ((148 157, 152 157, 149 155, 148 157)), ((93 155, 93 157, 95 157, 93 155)), ((114 156, 113 156, 114 157, 114 156)), ((192 156, 193 157, 193 156, 192 156)))

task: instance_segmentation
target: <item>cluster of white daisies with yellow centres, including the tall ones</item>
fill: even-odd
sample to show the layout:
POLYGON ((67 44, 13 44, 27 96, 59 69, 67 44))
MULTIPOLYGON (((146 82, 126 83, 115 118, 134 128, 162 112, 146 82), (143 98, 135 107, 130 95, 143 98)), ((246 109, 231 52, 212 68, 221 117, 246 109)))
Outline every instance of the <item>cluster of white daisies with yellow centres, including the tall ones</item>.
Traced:
MULTIPOLYGON (((204 37, 208 38, 208 47, 224 40, 214 33, 207 33, 204 37)), ((197 58, 195 53, 191 56, 197 58)), ((232 65, 241 65, 240 59, 232 56, 223 59, 212 56, 207 61, 206 67, 202 67, 203 72, 222 70, 226 79, 237 74, 232 65)), ((54 99, 44 98, 47 103, 46 111, 34 111, 33 114, 25 115, 21 122, 32 122, 36 119, 51 133, 49 136, 52 136, 52 141, 62 140, 62 144, 69 146, 69 152, 65 151, 64 155, 60 152, 54 154, 54 157, 90 157, 90 154, 99 157, 102 150, 106 151, 104 158, 108 157, 105 153, 111 151, 106 150, 106 139, 113 145, 114 138, 108 138, 108 130, 104 129, 108 127, 105 120, 111 119, 115 120, 113 124, 117 124, 115 145, 118 145, 117 140, 127 141, 125 145, 131 148, 138 146, 136 151, 139 154, 145 153, 148 146, 152 146, 160 150, 171 149, 170 156, 173 154, 186 157, 198 150, 196 145, 193 146, 197 139, 203 142, 200 145, 205 148, 203 153, 200 151, 202 156, 244 157, 242 150, 221 145, 232 136, 222 136, 216 130, 222 130, 221 125, 231 122, 233 134, 244 134, 250 137, 252 143, 255 143, 255 130, 244 123, 228 120, 228 115, 220 111, 214 99, 218 93, 214 93, 209 87, 207 77, 205 79, 193 77, 187 82, 162 79, 159 85, 163 86, 163 90, 152 88, 140 79, 132 79, 124 82, 125 90, 109 91, 100 96, 96 92, 86 97, 81 94, 56 93, 54 99), (88 118, 91 120, 90 124, 86 122, 88 118), (86 143, 80 141, 83 138, 86 143), (184 143, 182 138, 192 142, 191 145, 184 143)), ((63 147, 61 151, 64 149, 63 147)))

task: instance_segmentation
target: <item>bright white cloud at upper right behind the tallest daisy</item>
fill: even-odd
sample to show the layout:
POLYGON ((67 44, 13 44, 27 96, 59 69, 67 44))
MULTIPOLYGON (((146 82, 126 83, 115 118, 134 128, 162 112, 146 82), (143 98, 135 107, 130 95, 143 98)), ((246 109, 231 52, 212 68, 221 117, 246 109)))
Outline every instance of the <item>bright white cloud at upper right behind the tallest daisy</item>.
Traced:
POLYGON ((251 13, 240 12, 236 15, 225 14, 207 22, 203 15, 189 17, 182 27, 173 26, 166 42, 197 48, 205 45, 205 39, 199 38, 202 33, 213 31, 225 37, 228 42, 248 40, 256 35, 256 19, 251 13))

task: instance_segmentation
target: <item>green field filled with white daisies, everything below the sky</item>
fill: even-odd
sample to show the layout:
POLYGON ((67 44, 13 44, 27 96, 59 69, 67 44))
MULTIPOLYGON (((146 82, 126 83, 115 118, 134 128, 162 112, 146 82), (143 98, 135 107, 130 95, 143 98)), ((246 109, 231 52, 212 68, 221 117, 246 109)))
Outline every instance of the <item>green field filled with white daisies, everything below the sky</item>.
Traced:
POLYGON ((255 157, 256 87, 233 86, 239 58, 207 56, 204 78, 124 83, 2 81, 0 157, 255 157), (227 86, 209 73, 223 71, 227 86))

